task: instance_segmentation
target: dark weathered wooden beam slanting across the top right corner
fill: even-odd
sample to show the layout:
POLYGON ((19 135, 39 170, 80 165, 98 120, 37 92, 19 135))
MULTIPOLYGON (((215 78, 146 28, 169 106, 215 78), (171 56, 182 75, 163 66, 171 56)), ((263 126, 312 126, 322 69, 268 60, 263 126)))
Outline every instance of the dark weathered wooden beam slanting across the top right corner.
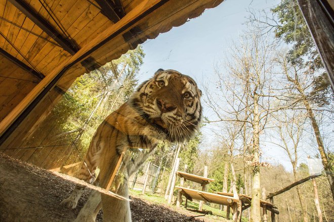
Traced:
POLYGON ((334 91, 334 20, 326 0, 297 0, 334 91))

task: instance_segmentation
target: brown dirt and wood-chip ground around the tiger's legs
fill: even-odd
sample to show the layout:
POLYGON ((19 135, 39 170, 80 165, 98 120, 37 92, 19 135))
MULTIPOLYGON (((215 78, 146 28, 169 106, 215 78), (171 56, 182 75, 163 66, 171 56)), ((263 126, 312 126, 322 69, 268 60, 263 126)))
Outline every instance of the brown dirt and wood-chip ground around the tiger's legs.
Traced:
MULTIPOLYGON (((89 192, 86 189, 76 209, 71 210, 59 203, 73 190, 75 184, 52 172, 13 159, 0 152, 0 221, 72 221, 89 192)), ((133 221, 190 221, 194 214, 182 213, 173 208, 152 204, 131 197, 133 221)), ((102 211, 96 221, 102 220, 102 211)), ((203 221, 201 219, 191 221, 203 221)))

